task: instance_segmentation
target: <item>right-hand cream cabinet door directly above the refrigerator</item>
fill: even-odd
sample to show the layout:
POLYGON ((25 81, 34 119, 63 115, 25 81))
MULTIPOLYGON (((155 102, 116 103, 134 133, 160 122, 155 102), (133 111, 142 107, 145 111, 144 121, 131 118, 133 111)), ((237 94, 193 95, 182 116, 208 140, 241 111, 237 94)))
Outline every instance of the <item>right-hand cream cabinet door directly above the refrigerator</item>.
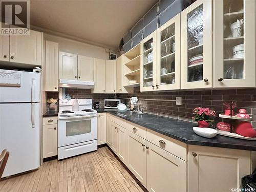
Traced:
POLYGON ((42 33, 30 30, 30 35, 10 35, 10 61, 41 66, 42 33))

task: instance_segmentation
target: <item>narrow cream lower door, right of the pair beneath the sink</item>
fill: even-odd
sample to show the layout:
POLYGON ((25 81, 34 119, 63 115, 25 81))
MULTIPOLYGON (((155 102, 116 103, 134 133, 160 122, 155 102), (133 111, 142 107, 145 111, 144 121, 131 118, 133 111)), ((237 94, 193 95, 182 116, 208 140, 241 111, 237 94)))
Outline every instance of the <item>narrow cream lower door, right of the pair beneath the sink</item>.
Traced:
POLYGON ((118 128, 118 157, 121 161, 126 164, 126 130, 121 127, 117 126, 118 128))

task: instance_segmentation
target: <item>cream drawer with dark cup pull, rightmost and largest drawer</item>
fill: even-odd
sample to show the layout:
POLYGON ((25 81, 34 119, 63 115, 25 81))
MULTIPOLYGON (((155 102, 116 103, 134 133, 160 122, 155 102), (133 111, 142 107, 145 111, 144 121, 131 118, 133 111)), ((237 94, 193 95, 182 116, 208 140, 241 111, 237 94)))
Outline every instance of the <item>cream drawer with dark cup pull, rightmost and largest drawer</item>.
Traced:
POLYGON ((185 143, 148 129, 146 138, 153 144, 186 161, 187 145, 185 143))

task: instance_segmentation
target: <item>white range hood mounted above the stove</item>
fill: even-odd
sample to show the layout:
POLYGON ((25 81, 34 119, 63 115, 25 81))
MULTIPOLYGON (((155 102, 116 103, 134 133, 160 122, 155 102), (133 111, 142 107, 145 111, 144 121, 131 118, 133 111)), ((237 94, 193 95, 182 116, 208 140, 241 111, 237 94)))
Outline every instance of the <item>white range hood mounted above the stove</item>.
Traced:
POLYGON ((59 79, 59 88, 92 89, 94 88, 94 81, 59 79))

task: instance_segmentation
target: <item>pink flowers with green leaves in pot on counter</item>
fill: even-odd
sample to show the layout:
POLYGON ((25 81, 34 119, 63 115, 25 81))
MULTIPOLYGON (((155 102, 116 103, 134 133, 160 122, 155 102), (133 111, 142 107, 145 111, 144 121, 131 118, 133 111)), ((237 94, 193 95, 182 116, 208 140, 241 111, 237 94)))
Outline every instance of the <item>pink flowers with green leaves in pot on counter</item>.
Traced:
POLYGON ((209 108, 195 108, 193 110, 194 117, 193 119, 196 121, 213 121, 216 116, 216 112, 214 110, 210 110, 209 108))

